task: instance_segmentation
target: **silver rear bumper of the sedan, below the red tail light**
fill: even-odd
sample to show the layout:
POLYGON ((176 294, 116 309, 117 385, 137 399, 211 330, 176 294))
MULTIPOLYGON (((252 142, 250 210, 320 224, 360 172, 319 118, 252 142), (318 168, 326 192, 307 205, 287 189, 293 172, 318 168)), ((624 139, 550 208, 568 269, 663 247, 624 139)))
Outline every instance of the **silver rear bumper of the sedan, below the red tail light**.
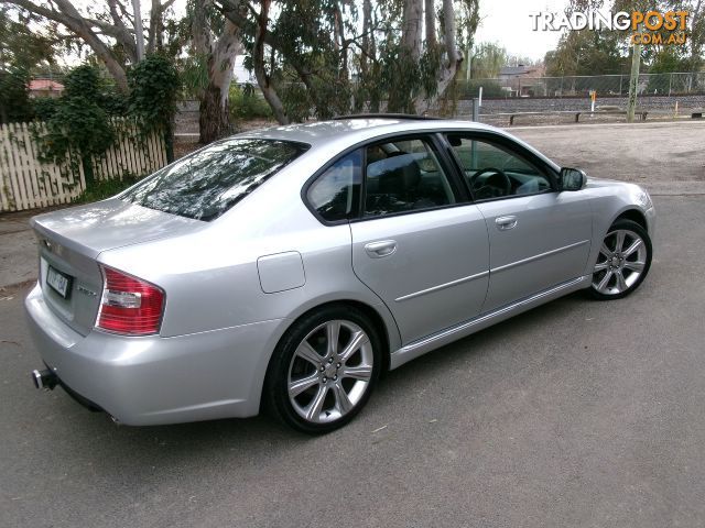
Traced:
POLYGON ((134 426, 257 415, 282 327, 271 320, 173 338, 84 337, 53 314, 39 285, 25 309, 34 343, 61 383, 134 426))

